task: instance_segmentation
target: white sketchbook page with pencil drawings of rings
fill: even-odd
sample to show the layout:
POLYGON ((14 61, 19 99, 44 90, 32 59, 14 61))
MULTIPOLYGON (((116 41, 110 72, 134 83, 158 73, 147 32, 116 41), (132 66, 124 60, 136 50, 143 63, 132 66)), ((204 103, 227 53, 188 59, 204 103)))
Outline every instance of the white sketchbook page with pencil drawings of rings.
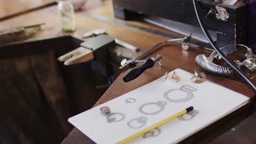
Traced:
POLYGON ((162 119, 194 110, 130 143, 177 143, 246 104, 248 97, 211 81, 193 83, 191 73, 176 69, 181 81, 165 76, 68 119, 96 143, 116 143, 162 119), (100 108, 110 107, 102 116, 100 108))

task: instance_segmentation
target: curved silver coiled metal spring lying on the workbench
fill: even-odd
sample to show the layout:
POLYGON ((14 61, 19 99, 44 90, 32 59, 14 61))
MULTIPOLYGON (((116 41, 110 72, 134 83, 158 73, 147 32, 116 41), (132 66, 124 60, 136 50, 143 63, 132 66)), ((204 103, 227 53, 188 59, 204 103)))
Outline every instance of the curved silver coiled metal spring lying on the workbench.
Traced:
POLYGON ((196 63, 211 74, 220 76, 234 76, 231 67, 223 67, 209 61, 205 55, 198 55, 195 59, 196 63))

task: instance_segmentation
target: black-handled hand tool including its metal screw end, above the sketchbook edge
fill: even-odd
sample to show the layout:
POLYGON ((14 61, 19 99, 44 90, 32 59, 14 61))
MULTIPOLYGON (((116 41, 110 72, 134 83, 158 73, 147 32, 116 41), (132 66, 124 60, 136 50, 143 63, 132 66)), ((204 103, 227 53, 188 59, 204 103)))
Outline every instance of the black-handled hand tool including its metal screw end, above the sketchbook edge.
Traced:
POLYGON ((158 55, 156 57, 148 58, 141 61, 134 61, 133 63, 144 62, 143 64, 139 65, 136 68, 131 69, 124 77, 124 82, 129 82, 131 80, 136 79, 139 75, 141 75, 145 70, 154 67, 155 62, 159 61, 161 65, 162 56, 158 55))

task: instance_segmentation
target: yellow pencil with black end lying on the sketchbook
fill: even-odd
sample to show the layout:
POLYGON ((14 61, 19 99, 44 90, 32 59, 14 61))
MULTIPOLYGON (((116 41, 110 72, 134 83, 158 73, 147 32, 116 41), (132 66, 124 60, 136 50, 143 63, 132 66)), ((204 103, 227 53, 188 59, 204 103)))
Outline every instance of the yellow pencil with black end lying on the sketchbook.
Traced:
POLYGON ((131 141, 131 140, 134 140, 134 139, 136 139, 137 137, 142 136, 143 134, 147 133, 148 131, 151 131, 151 130, 153 130, 153 129, 155 129, 155 128, 158 128, 158 127, 160 127, 161 125, 166 124, 167 122, 170 122, 170 121, 172 121, 173 119, 176 119, 176 118, 178 118, 179 116, 182 116, 182 115, 184 115, 185 113, 188 113, 189 111, 191 111, 191 110, 193 110, 193 109, 194 109, 193 106, 190 106, 190 107, 188 107, 187 109, 185 109, 185 110, 183 110, 183 111, 180 111, 180 112, 178 112, 178 113, 176 113, 176 114, 174 114, 174 115, 172 115, 172 116, 170 116, 170 117, 168 117, 168 118, 166 118, 166 119, 164 119, 164 120, 162 120, 162 121, 160 121, 160 122, 158 122, 158 123, 153 124, 152 126, 146 128, 146 129, 143 129, 143 130, 139 131, 139 132, 136 133, 136 134, 133 134, 133 135, 127 137, 127 138, 124 139, 124 140, 121 140, 121 141, 117 142, 117 144, 123 144, 123 143, 127 143, 127 142, 129 142, 129 141, 131 141))

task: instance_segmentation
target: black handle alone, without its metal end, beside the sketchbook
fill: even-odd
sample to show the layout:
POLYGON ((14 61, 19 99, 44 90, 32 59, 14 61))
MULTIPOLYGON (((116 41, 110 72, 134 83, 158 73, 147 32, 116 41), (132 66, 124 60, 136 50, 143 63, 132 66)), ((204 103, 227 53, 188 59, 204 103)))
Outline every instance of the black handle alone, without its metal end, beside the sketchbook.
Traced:
POLYGON ((132 81, 134 79, 136 79, 139 75, 141 75, 143 73, 143 71, 145 71, 148 68, 152 68, 154 66, 154 61, 151 58, 148 58, 146 60, 146 62, 144 62, 142 65, 139 65, 136 68, 133 68, 132 70, 130 70, 124 77, 123 80, 124 82, 129 82, 132 81))

